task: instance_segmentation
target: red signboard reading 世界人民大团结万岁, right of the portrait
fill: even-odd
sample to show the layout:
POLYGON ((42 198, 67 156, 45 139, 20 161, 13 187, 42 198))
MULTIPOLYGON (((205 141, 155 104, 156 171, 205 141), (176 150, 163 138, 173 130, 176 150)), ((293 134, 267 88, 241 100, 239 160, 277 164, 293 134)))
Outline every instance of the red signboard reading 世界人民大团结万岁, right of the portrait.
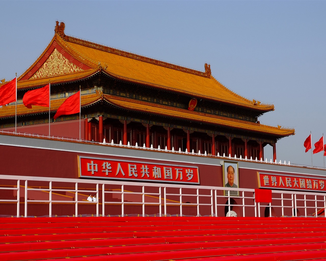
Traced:
POLYGON ((273 173, 259 173, 259 188, 326 191, 326 179, 316 177, 300 177, 290 175, 277 175, 273 173))

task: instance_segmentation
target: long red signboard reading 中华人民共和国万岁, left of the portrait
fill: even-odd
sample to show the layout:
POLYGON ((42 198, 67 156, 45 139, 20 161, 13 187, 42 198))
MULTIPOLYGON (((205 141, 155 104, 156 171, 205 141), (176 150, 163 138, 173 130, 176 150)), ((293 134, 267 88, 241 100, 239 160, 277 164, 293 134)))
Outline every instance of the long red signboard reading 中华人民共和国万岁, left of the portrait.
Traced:
POLYGON ((78 156, 79 177, 199 184, 196 166, 78 156))

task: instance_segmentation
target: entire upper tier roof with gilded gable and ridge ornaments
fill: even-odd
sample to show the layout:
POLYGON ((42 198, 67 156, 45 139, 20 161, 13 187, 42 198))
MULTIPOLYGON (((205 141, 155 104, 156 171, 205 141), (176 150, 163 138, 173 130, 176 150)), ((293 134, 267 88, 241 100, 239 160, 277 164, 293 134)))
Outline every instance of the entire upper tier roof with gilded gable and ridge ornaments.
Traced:
POLYGON ((18 89, 40 87, 49 81, 71 82, 102 70, 124 81, 247 108, 258 114, 274 110, 273 104, 245 99, 223 86, 211 75, 210 65, 205 64, 205 71, 181 67, 67 36, 64 27, 64 23, 57 22, 50 44, 18 78, 18 89), (57 63, 63 69, 58 69, 57 63))

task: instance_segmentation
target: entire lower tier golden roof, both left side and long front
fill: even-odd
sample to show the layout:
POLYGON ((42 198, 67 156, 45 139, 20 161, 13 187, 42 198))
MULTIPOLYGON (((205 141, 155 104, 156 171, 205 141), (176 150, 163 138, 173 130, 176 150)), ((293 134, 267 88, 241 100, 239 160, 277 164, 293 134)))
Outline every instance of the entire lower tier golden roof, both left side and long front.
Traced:
MULTIPOLYGON (((52 99, 51 112, 55 112, 59 106, 67 98, 52 99)), ((252 131, 256 133, 264 133, 277 137, 285 137, 294 134, 294 129, 277 128, 260 123, 248 122, 239 119, 226 118, 218 115, 207 115, 196 111, 188 111, 185 109, 175 108, 162 104, 149 103, 134 99, 112 96, 108 94, 92 93, 81 96, 82 107, 89 106, 99 100, 105 100, 109 104, 126 110, 133 110, 135 112, 142 112, 157 116, 168 116, 173 119, 182 119, 195 121, 199 123, 206 123, 215 127, 226 127, 236 130, 252 131)), ((17 105, 17 115, 32 115, 32 114, 46 114, 49 112, 48 107, 33 106, 32 109, 26 108, 23 104, 17 105)), ((0 118, 15 117, 15 105, 7 105, 0 108, 0 118)))

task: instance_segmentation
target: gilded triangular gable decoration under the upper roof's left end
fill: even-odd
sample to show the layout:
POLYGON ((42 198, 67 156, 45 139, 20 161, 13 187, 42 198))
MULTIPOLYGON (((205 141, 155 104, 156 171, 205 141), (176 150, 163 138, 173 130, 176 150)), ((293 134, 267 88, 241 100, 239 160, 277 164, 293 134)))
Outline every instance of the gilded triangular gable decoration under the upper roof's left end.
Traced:
POLYGON ((30 79, 39 79, 79 71, 82 71, 82 69, 71 63, 57 49, 54 49, 46 62, 30 79))

